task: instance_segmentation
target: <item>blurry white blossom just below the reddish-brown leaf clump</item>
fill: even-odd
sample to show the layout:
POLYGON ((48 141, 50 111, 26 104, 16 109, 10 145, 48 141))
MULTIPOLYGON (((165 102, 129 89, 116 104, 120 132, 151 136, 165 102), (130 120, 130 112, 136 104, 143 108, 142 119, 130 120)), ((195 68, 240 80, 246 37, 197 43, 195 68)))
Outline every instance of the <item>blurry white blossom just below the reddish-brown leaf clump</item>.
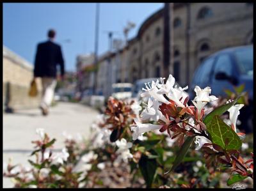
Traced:
POLYGON ((118 162, 120 162, 120 160, 123 160, 124 162, 128 162, 128 158, 133 157, 129 150, 129 148, 132 147, 131 142, 127 142, 124 138, 122 138, 120 141, 119 140, 116 141, 116 146, 118 146, 116 153, 120 154, 118 155, 118 158, 116 158, 118 162))

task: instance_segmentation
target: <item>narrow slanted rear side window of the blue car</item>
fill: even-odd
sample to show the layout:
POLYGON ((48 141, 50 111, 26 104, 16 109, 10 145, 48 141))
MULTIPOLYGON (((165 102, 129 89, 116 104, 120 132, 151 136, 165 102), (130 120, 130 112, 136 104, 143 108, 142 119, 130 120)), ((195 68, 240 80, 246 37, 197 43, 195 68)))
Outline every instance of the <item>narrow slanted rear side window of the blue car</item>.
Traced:
POLYGON ((200 78, 198 79, 198 84, 200 84, 201 86, 207 86, 207 82, 209 82, 209 79, 211 77, 213 63, 213 57, 205 60, 204 63, 202 63, 202 69, 200 70, 200 78))

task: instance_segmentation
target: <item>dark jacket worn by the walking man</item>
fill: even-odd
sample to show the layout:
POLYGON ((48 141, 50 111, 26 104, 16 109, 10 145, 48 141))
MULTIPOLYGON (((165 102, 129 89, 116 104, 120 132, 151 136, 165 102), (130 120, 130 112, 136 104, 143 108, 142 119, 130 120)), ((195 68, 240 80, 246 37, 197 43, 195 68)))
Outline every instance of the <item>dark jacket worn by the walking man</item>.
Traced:
POLYGON ((35 56, 35 77, 56 77, 57 65, 60 65, 61 75, 64 75, 64 60, 60 45, 50 40, 38 43, 35 56))

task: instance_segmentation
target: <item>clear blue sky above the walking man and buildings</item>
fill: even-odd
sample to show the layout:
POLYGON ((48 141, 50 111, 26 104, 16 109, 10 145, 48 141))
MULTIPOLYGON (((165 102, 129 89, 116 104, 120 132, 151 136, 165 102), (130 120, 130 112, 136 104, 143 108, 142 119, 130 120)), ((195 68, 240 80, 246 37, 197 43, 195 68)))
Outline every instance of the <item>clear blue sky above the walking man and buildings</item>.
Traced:
MULTIPOLYGON (((124 40, 127 21, 136 27, 128 39, 138 33, 141 24, 163 3, 100 3, 99 50, 108 51, 108 33, 124 40)), ((56 30, 67 71, 76 70, 76 56, 94 52, 96 3, 3 3, 3 45, 33 65, 36 45, 47 40, 47 31, 56 30), (69 41, 68 41, 69 40, 69 41)))

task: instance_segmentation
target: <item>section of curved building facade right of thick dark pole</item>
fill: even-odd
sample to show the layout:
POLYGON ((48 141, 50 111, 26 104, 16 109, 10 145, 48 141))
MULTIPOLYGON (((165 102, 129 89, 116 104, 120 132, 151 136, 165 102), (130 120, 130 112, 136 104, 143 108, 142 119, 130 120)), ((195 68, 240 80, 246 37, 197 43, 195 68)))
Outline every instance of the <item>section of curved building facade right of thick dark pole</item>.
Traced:
POLYGON ((191 82, 196 66, 205 57, 227 47, 253 43, 251 3, 183 3, 170 7, 170 67, 182 85, 191 82))

